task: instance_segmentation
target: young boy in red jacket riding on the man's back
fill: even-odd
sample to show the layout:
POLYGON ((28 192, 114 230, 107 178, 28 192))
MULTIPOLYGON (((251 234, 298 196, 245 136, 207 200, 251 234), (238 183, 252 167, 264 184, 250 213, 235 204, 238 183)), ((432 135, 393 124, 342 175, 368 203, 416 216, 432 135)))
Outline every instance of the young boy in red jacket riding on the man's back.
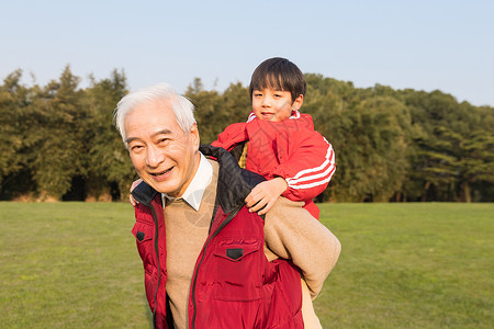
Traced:
POLYGON ((229 125, 213 146, 239 157, 240 166, 263 175, 246 198, 251 212, 266 214, 280 195, 304 201, 316 218, 312 198, 335 172, 332 145, 317 132, 311 115, 299 112, 305 95, 302 71, 285 58, 261 63, 250 80, 252 112, 246 123, 229 125))

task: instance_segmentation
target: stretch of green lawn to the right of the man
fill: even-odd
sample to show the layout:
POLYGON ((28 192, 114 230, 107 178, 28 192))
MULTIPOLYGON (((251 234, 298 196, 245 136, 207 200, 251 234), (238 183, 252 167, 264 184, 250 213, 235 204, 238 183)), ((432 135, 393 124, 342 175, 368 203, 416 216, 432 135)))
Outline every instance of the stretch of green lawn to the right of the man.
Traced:
POLYGON ((328 204, 324 328, 493 328, 494 204, 328 204))

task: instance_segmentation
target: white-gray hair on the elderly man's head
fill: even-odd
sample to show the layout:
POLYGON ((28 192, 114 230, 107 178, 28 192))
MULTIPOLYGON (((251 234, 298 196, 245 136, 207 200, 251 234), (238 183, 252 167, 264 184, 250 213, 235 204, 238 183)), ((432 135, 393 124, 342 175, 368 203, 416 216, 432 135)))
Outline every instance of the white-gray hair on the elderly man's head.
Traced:
POLYGON ((131 92, 124 95, 116 104, 113 118, 125 146, 127 146, 125 141, 127 138, 125 132, 125 117, 127 114, 138 105, 158 100, 169 101, 180 128, 186 134, 190 132, 190 128, 195 123, 194 105, 187 98, 178 94, 171 86, 158 83, 131 92))

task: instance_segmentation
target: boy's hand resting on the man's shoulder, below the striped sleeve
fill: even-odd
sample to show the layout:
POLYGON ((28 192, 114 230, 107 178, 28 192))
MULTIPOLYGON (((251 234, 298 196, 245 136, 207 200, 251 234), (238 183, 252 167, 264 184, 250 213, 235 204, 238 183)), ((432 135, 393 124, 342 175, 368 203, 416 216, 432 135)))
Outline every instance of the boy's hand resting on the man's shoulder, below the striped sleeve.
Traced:
POLYGON ((274 202, 287 188, 287 181, 281 177, 277 177, 270 181, 257 184, 245 198, 245 203, 250 213, 263 215, 271 209, 274 202))

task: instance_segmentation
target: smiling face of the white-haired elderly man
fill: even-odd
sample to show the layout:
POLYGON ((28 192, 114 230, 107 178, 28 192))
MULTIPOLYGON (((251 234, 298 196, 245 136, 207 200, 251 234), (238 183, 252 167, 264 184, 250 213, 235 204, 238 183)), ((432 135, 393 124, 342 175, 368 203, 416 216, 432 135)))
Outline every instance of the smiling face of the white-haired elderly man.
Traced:
POLYGON ((138 175, 160 193, 181 196, 199 167, 197 125, 183 133, 168 101, 134 107, 124 125, 128 152, 138 175))

